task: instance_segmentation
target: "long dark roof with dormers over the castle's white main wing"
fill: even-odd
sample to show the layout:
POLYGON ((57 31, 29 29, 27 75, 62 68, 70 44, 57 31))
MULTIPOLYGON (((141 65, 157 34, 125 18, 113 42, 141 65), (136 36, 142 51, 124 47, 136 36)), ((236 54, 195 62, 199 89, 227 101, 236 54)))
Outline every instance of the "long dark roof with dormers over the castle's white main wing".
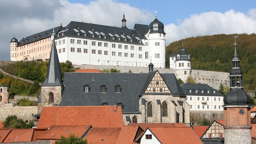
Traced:
POLYGON ((128 28, 119 28, 119 27, 106 26, 106 25, 100 25, 100 24, 71 21, 66 27, 60 28, 59 33, 63 32, 63 36, 62 34, 59 34, 58 38, 62 38, 65 36, 85 38, 84 32, 86 32, 87 34, 86 38, 92 39, 92 40, 100 39, 100 40, 108 40, 112 42, 116 41, 116 42, 122 42, 122 43, 128 43, 128 44, 140 44, 139 40, 137 40, 136 37, 138 37, 139 39, 146 39, 144 34, 147 33, 148 31, 149 31, 149 26, 143 25, 143 24, 136 24, 134 29, 128 29, 128 28), (77 35, 77 32, 80 32, 80 35, 77 35), (94 37, 92 36, 92 33, 94 34, 94 37), (97 33, 101 35, 101 38, 99 38, 97 33), (112 36, 110 36, 109 33, 111 33, 112 36, 115 37, 115 40, 112 40, 112 36), (117 34, 121 38, 121 40, 118 40, 118 37, 115 36, 115 34, 117 34), (127 41, 125 41, 124 37, 122 37, 121 35, 126 37, 127 41), (107 36, 106 39, 104 39, 104 36, 107 36), (129 40, 127 36, 132 38, 132 42, 129 40))

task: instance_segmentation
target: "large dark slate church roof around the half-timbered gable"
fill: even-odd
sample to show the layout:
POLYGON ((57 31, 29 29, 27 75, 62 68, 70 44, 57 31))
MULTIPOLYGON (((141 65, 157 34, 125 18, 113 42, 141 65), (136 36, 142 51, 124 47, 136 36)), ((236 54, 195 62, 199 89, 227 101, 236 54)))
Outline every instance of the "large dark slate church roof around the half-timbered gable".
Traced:
MULTIPOLYGON (((158 72, 158 71, 157 71, 158 72)), ((173 95, 185 96, 176 76, 171 73, 160 74, 169 87, 171 93, 144 93, 152 80, 152 73, 64 73, 64 92, 59 106, 98 105, 107 102, 124 105, 123 112, 139 112, 139 99, 141 95, 173 95), (84 92, 84 85, 88 84, 89 92, 84 92), (100 85, 106 85, 106 92, 100 92, 100 85), (116 92, 115 86, 121 86, 121 92, 116 92)))

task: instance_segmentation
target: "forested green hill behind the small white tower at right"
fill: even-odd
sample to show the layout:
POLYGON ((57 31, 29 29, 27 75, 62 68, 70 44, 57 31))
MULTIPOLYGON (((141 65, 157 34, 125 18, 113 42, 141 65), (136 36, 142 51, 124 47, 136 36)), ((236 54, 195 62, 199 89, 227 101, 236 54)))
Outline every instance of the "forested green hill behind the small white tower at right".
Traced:
MULTIPOLYGON (((197 36, 170 43, 166 47, 166 67, 169 68, 170 54, 180 51, 182 43, 190 54, 192 69, 230 72, 234 57, 234 39, 232 35, 197 36)), ((236 34, 236 52, 240 59, 240 68, 244 75, 244 89, 256 90, 256 34, 236 34)))

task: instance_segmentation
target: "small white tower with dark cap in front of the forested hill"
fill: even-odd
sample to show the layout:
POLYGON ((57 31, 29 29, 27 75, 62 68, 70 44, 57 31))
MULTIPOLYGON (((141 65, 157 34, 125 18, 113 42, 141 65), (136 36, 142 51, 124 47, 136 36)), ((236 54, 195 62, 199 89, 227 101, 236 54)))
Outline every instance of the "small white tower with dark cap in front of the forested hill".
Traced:
POLYGON ((180 52, 170 56, 170 68, 175 69, 176 78, 183 82, 186 82, 188 77, 191 76, 190 55, 185 50, 183 43, 180 52))

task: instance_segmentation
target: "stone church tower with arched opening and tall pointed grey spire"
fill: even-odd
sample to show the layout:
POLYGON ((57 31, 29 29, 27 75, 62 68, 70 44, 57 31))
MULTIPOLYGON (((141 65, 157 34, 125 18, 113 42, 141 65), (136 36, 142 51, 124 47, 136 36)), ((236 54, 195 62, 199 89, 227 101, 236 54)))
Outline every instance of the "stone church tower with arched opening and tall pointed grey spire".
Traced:
POLYGON ((47 69, 46 80, 41 86, 41 92, 38 99, 38 113, 41 113, 43 107, 57 106, 61 101, 61 94, 64 89, 63 79, 60 70, 60 63, 57 49, 54 41, 54 30, 52 32, 52 49, 47 69))

